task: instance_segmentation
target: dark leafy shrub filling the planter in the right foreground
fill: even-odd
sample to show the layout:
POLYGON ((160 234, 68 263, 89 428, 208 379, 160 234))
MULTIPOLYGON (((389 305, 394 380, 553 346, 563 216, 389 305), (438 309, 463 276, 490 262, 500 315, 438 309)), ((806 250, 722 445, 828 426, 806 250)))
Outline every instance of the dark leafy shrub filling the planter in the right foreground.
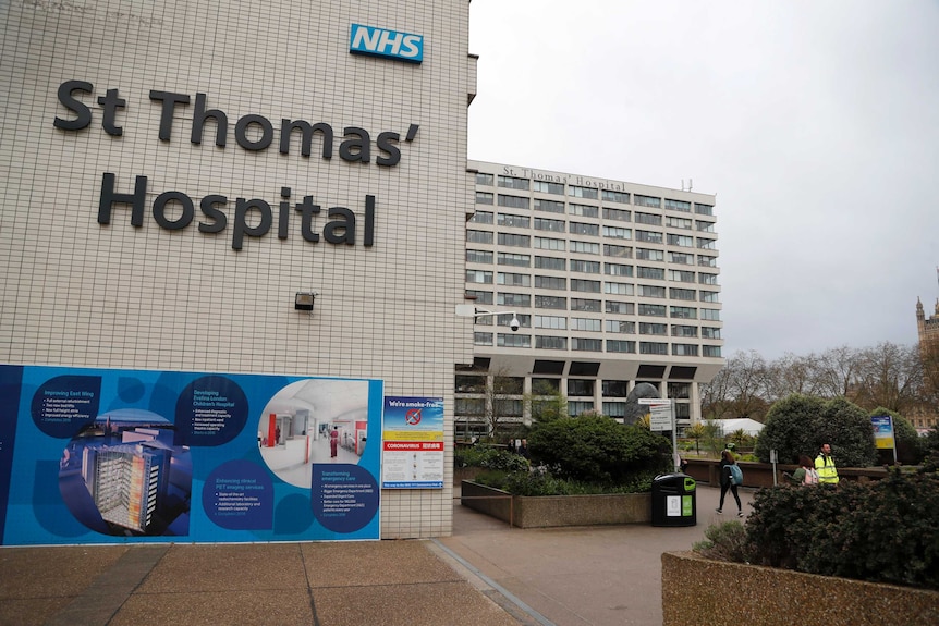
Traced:
POLYGON ((771 488, 747 520, 752 560, 809 574, 939 589, 939 475, 771 488))

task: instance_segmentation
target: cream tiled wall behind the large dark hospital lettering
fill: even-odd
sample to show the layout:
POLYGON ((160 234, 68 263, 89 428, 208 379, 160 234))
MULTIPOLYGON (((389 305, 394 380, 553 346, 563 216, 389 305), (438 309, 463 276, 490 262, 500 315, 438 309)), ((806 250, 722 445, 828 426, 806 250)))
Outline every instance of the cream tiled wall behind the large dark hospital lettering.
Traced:
MULTIPOLYGON (((466 98, 475 89, 467 57, 465 0, 142 0, 0 5, 0 361, 108 368, 182 369, 380 378, 388 395, 442 396, 444 489, 385 491, 382 536, 451 531, 453 364, 472 361, 472 331, 453 316, 464 289, 466 98), (353 23, 424 35, 423 64, 352 56, 353 23), (57 97, 66 81, 92 124, 57 97), (102 128, 97 99, 118 89, 126 102, 102 128), (161 105, 151 90, 186 94, 169 142, 158 137, 161 105), (229 119, 228 144, 190 140, 196 94, 229 119), (236 121, 263 115, 273 144, 241 148, 236 121), (302 157, 277 146, 282 118, 325 122, 333 155, 319 140, 302 157), (404 136, 419 125, 413 142, 404 136), (371 162, 339 156, 343 128, 371 135, 371 162), (401 135, 401 161, 375 159, 379 133, 401 135), (97 221, 105 172, 117 192, 147 176, 143 225, 127 205, 97 221), (281 188, 292 204, 312 195, 358 219, 356 244, 305 242, 290 211, 278 237, 281 188), (195 202, 185 229, 160 228, 151 206, 163 192, 195 202), (210 223, 199 200, 227 196, 229 225, 210 223), (375 245, 363 246, 366 194, 376 197, 375 245), (235 198, 259 198, 273 213, 264 237, 232 249, 235 198), (313 315, 294 310, 297 291, 316 291, 313 315)), ((248 131, 257 138, 257 127, 248 131)), ((179 205, 167 217, 179 219, 179 205)), ((249 218, 257 224, 257 218, 249 218)))

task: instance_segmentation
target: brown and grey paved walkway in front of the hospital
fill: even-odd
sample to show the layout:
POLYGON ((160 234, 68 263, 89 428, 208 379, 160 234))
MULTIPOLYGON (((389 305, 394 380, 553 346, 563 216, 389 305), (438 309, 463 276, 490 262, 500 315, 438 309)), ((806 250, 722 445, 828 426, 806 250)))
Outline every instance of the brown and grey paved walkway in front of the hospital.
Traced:
POLYGON ((684 528, 522 530, 458 503, 436 540, 3 548, 0 625, 658 626, 661 553, 717 498, 699 486, 684 528))

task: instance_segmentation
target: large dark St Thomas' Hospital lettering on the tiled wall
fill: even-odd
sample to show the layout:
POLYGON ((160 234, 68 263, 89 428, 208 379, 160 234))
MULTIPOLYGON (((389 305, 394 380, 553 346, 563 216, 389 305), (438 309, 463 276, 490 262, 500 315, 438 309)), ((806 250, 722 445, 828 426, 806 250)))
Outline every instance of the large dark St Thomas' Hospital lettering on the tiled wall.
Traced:
MULTIPOLYGON (((92 125, 92 109, 75 97, 76 94, 93 94, 94 85, 84 81, 66 81, 59 86, 59 102, 69 111, 74 113, 74 119, 57 116, 54 126, 63 131, 81 131, 92 125)), ((159 139, 169 143, 172 137, 173 121, 178 107, 187 107, 190 96, 172 91, 150 90, 150 100, 161 105, 159 139)), ((123 135, 123 127, 118 123, 119 111, 125 109, 126 100, 122 99, 118 89, 108 89, 105 96, 97 98, 97 103, 102 111, 101 128, 114 137, 123 135)), ((224 148, 228 144, 229 122, 228 115, 217 109, 206 109, 206 95, 196 94, 193 110, 192 130, 190 142, 199 145, 203 142, 204 127, 207 120, 216 126, 216 146, 224 148)), ((417 136, 419 126, 410 124, 404 137, 405 143, 413 142, 417 136)), ((365 128, 357 126, 345 126, 343 139, 339 145, 339 158, 346 162, 370 163, 371 162, 371 135, 365 128)), ((332 126, 326 122, 310 124, 305 120, 281 119, 279 152, 290 155, 291 139, 295 136, 301 138, 301 155, 308 158, 312 155, 314 135, 318 134, 321 139, 324 160, 332 159, 332 147, 334 132, 332 126)), ((243 149, 249 151, 261 151, 273 144, 273 124, 265 116, 257 114, 243 115, 235 122, 234 139, 243 149)), ((399 142, 401 135, 393 131, 385 131, 378 134, 375 142, 378 154, 375 162, 379 167, 392 168, 401 161, 401 149, 399 142)), ((131 206, 131 224, 144 225, 144 210, 147 194, 147 176, 136 175, 133 191, 120 192, 119 185, 126 184, 118 181, 112 172, 105 172, 101 176, 101 193, 98 207, 98 223, 108 224, 111 213, 117 205, 131 206)), ((130 185, 124 188, 129 188, 130 185)), ((288 200, 292 191, 290 187, 281 187, 280 195, 288 200)), ((199 210, 210 221, 199 222, 198 230, 202 233, 219 233, 228 226, 229 217, 221 210, 229 205, 229 198, 224 195, 208 195, 199 201, 199 210)), ((375 242, 375 196, 366 195, 364 201, 363 245, 370 247, 375 242)), ((277 236, 288 238, 290 232, 290 208, 291 202, 281 201, 277 212, 277 236)), ((322 207, 314 204, 313 196, 305 195, 303 200, 293 205, 294 210, 300 213, 301 235, 304 241, 310 243, 319 242, 319 233, 314 232, 314 220, 322 210, 322 207)), ((153 204, 154 221, 166 230, 182 230, 188 226, 195 218, 195 202, 183 192, 169 191, 159 194, 153 204), (175 208, 176 213, 182 210, 175 219, 167 217, 168 205, 175 208)), ((356 214, 346 207, 329 207, 326 209, 327 222, 322 228, 322 238, 330 244, 355 245, 356 214)), ((275 213, 271 205, 259 198, 236 198, 234 202, 234 221, 232 225, 232 248, 242 248, 245 236, 263 237, 273 224, 275 213), (249 219, 251 218, 251 219, 249 219), (252 225, 253 222, 254 225, 252 225)))

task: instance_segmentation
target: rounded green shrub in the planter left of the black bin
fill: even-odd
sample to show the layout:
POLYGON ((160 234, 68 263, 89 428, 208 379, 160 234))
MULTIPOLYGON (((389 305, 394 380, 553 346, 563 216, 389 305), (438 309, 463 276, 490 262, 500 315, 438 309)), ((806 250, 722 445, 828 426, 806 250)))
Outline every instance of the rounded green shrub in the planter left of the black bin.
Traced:
POLYGON ((537 425, 528 451, 558 478, 607 486, 668 471, 672 463, 671 442, 661 434, 596 415, 537 425))

